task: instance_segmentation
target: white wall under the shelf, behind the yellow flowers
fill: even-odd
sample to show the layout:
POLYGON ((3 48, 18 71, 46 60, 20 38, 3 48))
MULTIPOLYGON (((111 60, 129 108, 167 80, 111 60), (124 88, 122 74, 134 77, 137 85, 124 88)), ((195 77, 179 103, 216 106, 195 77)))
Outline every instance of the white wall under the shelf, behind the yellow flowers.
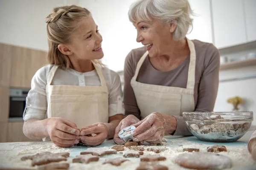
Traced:
MULTIPOLYGON (((256 66, 220 71, 219 77, 223 80, 253 74, 256 74, 256 66)), ((239 105, 239 108, 241 111, 253 111, 252 124, 256 125, 256 78, 220 82, 214 111, 232 111, 233 105, 227 103, 227 99, 234 96, 244 99, 244 103, 239 105)))

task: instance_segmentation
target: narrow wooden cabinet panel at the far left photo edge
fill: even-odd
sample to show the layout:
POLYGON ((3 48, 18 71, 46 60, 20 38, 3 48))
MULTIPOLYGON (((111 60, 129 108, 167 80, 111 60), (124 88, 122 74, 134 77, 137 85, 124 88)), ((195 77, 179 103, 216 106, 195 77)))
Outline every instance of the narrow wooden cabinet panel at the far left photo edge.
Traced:
POLYGON ((0 43, 0 86, 10 85, 12 46, 0 43))

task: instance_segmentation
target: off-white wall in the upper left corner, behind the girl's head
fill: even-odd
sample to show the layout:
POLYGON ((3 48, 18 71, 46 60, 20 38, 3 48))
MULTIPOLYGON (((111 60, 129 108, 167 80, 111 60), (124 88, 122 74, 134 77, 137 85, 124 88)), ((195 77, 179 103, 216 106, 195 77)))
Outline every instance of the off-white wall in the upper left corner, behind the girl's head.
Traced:
POLYGON ((76 0, 0 0, 0 42, 48 51, 45 18, 76 0))

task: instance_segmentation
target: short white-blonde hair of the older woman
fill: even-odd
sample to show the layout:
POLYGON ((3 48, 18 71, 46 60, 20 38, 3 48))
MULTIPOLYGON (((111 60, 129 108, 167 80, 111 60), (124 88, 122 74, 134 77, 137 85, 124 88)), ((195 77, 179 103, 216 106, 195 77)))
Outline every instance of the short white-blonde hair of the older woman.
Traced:
POLYGON ((193 11, 188 0, 137 0, 130 6, 128 15, 132 23, 138 20, 151 21, 154 18, 177 24, 173 40, 184 39, 189 27, 191 31, 193 28, 193 19, 190 17, 193 11))

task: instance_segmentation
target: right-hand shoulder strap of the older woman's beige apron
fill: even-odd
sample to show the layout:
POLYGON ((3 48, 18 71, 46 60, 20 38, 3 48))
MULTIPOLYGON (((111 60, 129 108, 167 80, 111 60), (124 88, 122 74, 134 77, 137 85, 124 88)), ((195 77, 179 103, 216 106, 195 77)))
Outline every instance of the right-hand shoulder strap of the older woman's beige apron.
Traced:
POLYGON ((195 45, 194 43, 186 39, 189 45, 190 51, 190 62, 189 62, 189 72, 188 72, 188 80, 187 80, 187 89, 194 90, 195 86, 195 61, 196 61, 196 54, 195 54, 195 45))

